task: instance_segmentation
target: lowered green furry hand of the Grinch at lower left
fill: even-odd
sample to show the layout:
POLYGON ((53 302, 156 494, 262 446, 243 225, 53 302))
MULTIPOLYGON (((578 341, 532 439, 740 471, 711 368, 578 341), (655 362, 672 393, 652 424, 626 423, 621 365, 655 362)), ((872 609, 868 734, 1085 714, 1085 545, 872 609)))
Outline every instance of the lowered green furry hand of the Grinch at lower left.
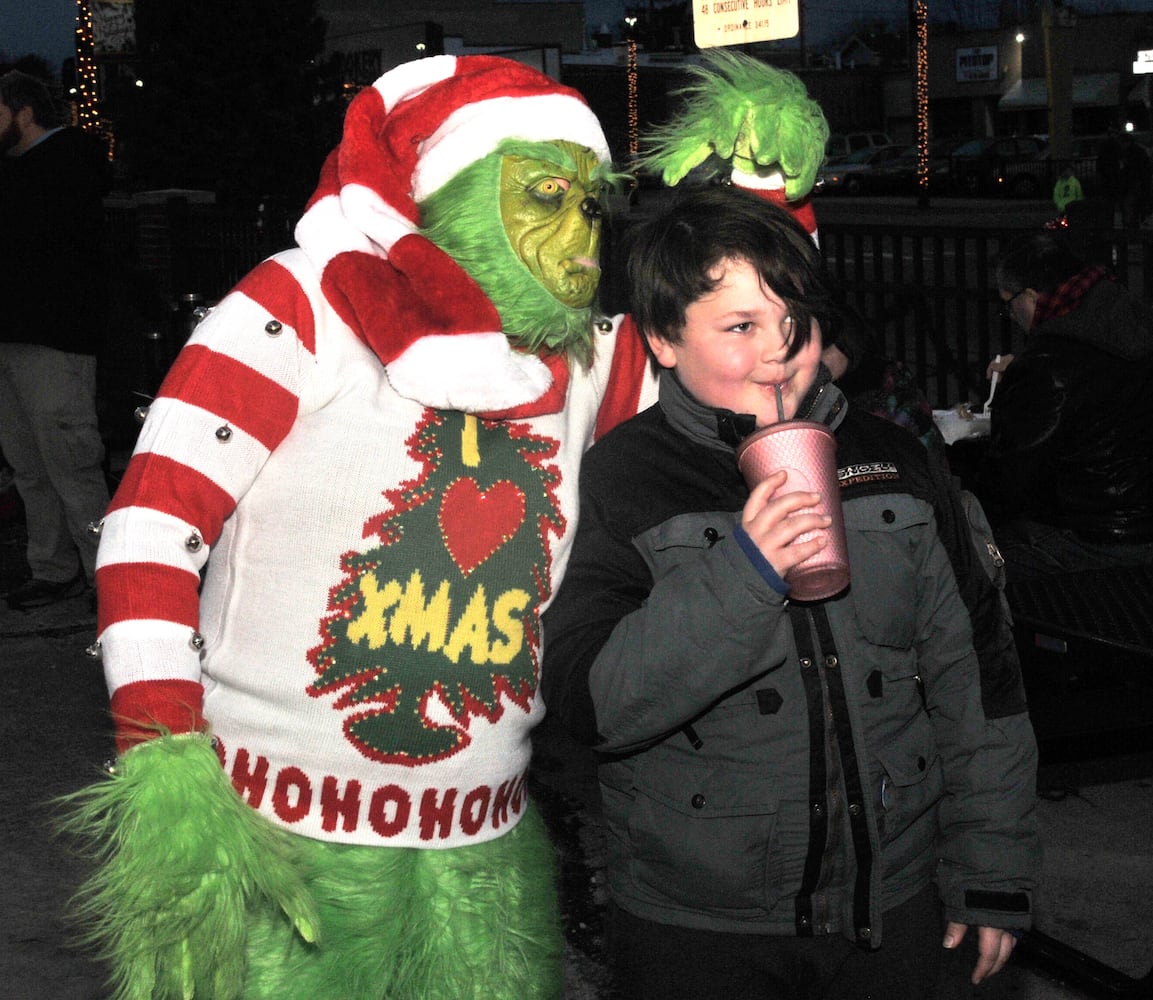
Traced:
POLYGON ((291 836, 241 800, 208 737, 144 743, 63 804, 65 833, 98 862, 75 917, 116 1000, 240 997, 247 910, 262 899, 315 940, 291 836))

